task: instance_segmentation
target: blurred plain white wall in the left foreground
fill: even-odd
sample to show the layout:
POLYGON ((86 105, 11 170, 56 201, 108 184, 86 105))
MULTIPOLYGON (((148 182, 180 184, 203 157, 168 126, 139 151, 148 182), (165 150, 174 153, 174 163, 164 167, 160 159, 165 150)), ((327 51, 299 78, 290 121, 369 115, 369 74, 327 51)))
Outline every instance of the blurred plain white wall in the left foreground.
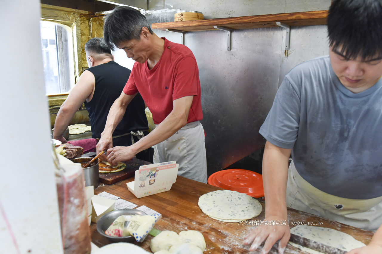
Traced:
POLYGON ((0 10, 0 254, 60 254, 40 1, 1 1, 0 10))

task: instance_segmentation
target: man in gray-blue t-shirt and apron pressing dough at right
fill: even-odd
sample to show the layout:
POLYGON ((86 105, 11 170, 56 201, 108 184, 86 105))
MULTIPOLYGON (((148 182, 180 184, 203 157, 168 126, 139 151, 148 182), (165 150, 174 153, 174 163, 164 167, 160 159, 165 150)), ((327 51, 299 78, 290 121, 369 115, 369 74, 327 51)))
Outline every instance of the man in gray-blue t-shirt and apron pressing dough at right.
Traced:
MULTIPOLYGON (((327 24, 329 56, 286 75, 260 129, 267 140, 265 220, 288 220, 286 206, 291 206, 378 229, 368 246, 350 253, 380 254, 382 0, 334 0, 327 24)), ((283 253, 289 238, 288 223, 266 225, 245 236, 244 244, 254 251, 265 241, 265 254, 280 240, 283 253)))

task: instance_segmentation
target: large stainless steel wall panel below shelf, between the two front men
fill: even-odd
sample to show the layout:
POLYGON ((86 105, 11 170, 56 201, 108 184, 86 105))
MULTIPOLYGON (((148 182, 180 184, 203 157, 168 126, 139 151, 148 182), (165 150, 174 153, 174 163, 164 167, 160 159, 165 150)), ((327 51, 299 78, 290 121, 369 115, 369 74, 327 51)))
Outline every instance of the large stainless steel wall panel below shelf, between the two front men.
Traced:
POLYGON ((264 145, 258 131, 277 92, 279 29, 234 30, 231 36, 231 51, 223 31, 185 37, 199 66, 210 174, 264 145))

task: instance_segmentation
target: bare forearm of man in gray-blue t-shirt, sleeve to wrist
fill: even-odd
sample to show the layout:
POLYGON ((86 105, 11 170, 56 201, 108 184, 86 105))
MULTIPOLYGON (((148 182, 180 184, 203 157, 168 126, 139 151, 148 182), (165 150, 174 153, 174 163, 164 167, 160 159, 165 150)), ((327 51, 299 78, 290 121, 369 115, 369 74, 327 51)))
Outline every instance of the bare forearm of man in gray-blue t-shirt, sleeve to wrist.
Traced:
POLYGON ((286 217, 286 183, 288 181, 289 149, 267 141, 263 157, 263 183, 267 205, 265 216, 286 217))

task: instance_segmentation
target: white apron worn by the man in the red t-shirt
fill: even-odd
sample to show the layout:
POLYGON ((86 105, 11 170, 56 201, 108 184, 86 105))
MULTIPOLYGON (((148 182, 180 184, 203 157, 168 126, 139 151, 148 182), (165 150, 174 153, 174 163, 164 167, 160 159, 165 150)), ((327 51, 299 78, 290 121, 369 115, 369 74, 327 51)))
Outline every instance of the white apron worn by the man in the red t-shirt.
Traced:
POLYGON ((200 121, 190 122, 167 140, 154 146, 154 163, 176 161, 178 175, 207 183, 204 129, 200 121))

